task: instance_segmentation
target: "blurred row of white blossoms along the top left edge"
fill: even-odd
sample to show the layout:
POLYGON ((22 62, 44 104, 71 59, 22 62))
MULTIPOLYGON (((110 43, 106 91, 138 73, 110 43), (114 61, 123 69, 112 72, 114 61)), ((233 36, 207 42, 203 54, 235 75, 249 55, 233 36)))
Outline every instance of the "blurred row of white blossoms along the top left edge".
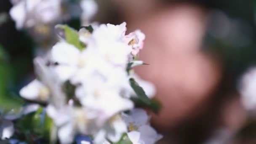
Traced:
POLYGON ((94 0, 11 0, 13 7, 10 15, 16 22, 17 29, 36 27, 45 30, 45 25, 65 21, 71 17, 81 16, 86 24, 96 14, 98 5, 94 0))

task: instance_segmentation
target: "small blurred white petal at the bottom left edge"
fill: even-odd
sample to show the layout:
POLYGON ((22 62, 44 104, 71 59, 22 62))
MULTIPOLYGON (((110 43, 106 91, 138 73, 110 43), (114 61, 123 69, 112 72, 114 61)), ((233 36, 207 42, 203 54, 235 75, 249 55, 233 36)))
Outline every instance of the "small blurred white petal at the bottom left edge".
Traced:
POLYGON ((0 133, 2 133, 1 139, 9 139, 14 133, 13 123, 9 120, 3 120, 0 125, 0 133))

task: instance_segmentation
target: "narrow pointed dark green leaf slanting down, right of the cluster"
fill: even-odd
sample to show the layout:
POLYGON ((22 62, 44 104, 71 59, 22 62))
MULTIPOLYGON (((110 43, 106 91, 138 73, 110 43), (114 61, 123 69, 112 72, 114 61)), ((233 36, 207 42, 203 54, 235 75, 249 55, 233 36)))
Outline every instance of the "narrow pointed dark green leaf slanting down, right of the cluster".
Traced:
POLYGON ((145 104, 150 104, 151 101, 146 95, 145 91, 133 78, 130 78, 130 85, 141 101, 143 101, 145 104))

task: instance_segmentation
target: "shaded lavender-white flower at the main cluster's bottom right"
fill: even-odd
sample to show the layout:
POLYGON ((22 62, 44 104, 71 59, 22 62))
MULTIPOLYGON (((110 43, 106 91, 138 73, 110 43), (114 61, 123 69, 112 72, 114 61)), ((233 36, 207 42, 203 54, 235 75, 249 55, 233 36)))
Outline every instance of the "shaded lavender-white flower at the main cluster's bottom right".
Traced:
POLYGON ((133 109, 129 115, 123 113, 128 126, 128 137, 133 144, 155 144, 163 136, 149 125, 149 116, 143 109, 133 109))

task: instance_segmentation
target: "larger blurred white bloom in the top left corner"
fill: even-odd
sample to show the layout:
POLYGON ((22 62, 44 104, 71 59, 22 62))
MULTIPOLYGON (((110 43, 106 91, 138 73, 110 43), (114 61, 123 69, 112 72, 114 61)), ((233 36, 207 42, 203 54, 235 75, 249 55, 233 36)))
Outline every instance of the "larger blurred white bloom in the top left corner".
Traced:
POLYGON ((15 1, 10 11, 17 29, 49 24, 59 20, 61 0, 20 0, 15 1))

